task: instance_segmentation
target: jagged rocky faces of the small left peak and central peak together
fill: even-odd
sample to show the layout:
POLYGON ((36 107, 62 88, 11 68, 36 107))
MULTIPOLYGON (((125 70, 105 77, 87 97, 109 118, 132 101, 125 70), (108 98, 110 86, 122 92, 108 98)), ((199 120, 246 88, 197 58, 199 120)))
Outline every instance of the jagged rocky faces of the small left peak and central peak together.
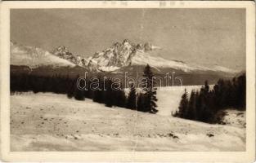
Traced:
POLYGON ((125 39, 122 43, 115 42, 106 50, 97 52, 88 59, 73 55, 65 46, 57 47, 52 54, 81 67, 88 67, 94 72, 109 72, 131 65, 133 56, 137 53, 152 51, 152 49, 152 45, 148 42, 136 45, 125 39))

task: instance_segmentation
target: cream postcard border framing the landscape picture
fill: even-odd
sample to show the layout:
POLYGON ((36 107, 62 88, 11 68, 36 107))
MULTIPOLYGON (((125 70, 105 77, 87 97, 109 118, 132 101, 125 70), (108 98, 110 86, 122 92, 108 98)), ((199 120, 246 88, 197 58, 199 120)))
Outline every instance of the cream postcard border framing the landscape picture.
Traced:
MULTIPOLYGON (((1 4, 1 158, 3 161, 233 161, 255 159, 255 9, 252 1, 2 2, 1 4), (245 8, 246 152, 10 152, 11 8, 245 8)), ((35 18, 36 19, 36 18, 35 18)))

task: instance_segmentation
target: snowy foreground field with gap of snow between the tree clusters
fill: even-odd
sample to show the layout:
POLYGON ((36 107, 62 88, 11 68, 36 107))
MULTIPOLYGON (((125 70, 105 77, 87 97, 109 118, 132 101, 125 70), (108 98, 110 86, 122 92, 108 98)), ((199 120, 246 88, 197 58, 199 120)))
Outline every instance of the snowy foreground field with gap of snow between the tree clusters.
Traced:
MULTIPOLYGON (((52 93, 11 95, 11 151, 245 151, 245 126, 172 117, 183 92, 159 90, 156 115, 52 93)), ((237 115, 245 122, 244 112, 226 121, 237 115)))

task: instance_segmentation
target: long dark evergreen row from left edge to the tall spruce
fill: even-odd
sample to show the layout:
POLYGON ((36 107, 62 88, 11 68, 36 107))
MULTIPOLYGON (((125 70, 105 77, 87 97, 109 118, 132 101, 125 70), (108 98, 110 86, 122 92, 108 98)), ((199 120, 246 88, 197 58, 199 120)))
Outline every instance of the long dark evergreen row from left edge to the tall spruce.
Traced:
POLYGON ((77 86, 79 76, 73 78, 61 75, 43 77, 29 73, 11 73, 11 92, 53 92, 66 94, 68 98, 77 100, 92 99, 94 102, 105 104, 106 107, 118 106, 141 112, 156 113, 158 112, 155 104, 157 101, 156 89, 155 83, 152 83, 153 73, 149 65, 145 68, 144 77, 147 85, 143 87, 143 92, 137 93, 137 89, 132 83, 128 96, 126 96, 123 86, 121 86, 123 89, 113 89, 117 86, 110 77, 107 77, 106 80, 103 80, 102 77, 94 77, 98 81, 97 89, 92 89, 92 81, 90 80, 79 82, 80 87, 86 88, 81 90, 77 86))

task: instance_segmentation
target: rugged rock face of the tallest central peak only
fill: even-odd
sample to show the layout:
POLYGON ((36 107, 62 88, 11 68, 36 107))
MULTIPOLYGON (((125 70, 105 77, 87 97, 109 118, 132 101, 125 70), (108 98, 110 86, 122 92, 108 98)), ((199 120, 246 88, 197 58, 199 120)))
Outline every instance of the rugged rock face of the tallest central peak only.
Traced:
POLYGON ((135 45, 125 39, 122 43, 114 43, 105 51, 95 53, 89 60, 88 68, 92 71, 113 71, 132 64, 132 57, 137 54, 137 51, 151 50, 150 43, 135 45))

